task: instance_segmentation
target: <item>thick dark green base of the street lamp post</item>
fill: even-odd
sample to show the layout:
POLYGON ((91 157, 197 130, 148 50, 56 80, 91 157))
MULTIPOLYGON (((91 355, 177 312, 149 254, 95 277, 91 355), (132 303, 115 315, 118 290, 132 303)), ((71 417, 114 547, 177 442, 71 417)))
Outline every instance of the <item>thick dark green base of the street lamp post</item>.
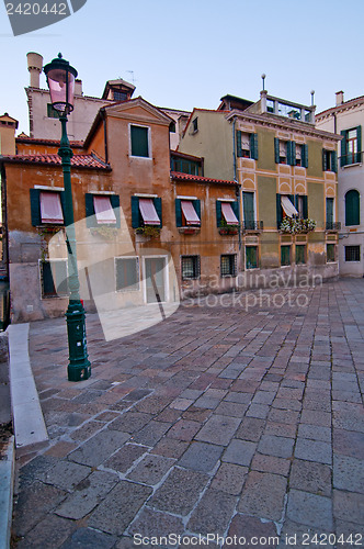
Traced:
POLYGON ((80 300, 70 300, 67 313, 69 348, 68 381, 84 381, 91 377, 86 340, 84 309, 80 300))

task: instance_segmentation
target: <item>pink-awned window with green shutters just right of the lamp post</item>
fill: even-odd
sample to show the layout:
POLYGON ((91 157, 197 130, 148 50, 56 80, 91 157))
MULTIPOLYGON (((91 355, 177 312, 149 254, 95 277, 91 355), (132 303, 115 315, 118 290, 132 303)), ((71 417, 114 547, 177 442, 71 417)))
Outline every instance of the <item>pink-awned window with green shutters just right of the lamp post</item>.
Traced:
POLYGON ((121 226, 120 197, 117 194, 84 194, 86 224, 89 228, 121 226))

